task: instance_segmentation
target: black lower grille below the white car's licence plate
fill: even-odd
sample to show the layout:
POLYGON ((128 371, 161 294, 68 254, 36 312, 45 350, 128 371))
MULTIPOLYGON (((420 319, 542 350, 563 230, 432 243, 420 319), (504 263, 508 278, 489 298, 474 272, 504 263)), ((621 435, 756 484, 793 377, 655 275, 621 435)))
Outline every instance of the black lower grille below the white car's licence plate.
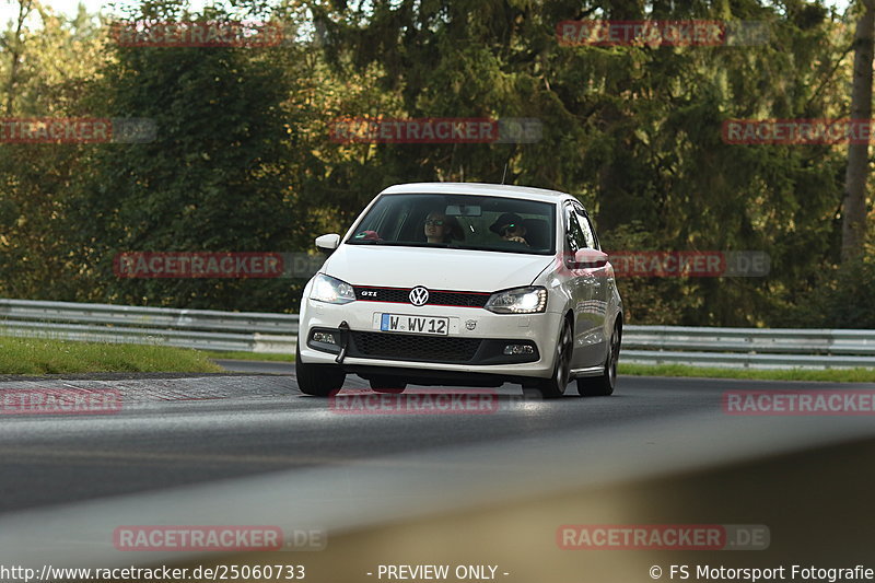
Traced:
POLYGON ((353 331, 350 357, 425 362, 469 362, 482 340, 415 334, 380 334, 353 331))

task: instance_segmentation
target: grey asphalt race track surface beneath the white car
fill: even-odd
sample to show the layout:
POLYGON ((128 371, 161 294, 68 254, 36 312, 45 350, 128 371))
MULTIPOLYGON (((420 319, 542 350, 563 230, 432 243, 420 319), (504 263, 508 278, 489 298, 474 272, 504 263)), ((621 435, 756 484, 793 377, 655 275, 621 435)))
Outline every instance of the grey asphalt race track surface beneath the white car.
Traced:
MULTIPOLYGON (((564 431, 580 432, 586 443, 606 431, 627 429, 631 435, 643 422, 670 421, 678 435, 692 438, 687 427, 725 421, 724 390, 769 384, 623 377, 611 397, 582 398, 569 385, 558 401, 523 400, 518 386, 505 385, 493 415, 342 415, 328 399, 301 395, 293 375, 7 383, 3 388, 117 389, 122 408, 114 415, 3 419, 0 510, 474 444, 511 447, 523 438, 559 440, 564 431)), ((345 385, 366 387, 355 376, 345 385)), ((637 439, 630 451, 660 447, 658 441, 637 439)))

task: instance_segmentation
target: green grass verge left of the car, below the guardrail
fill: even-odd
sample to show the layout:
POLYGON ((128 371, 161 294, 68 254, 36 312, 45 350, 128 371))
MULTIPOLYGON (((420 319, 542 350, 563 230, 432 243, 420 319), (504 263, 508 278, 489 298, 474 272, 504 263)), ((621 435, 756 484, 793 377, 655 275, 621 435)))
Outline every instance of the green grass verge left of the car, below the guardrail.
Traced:
POLYGON ((0 336, 0 374, 222 372, 199 350, 0 336))

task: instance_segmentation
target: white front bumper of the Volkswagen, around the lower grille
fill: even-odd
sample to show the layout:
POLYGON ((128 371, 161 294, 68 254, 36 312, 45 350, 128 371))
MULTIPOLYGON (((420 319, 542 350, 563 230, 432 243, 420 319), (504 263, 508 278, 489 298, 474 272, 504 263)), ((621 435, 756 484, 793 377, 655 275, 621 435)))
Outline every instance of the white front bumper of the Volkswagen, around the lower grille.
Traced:
POLYGON ((352 302, 332 305, 305 300, 299 345, 303 362, 335 364, 340 324, 349 326, 342 362, 348 372, 363 368, 394 371, 482 373, 499 377, 547 377, 552 373, 561 314, 494 314, 479 307, 352 302), (376 329, 380 314, 447 317, 450 335, 422 336, 376 329), (315 338, 314 338, 315 336, 315 338), (325 341, 334 337, 335 341, 325 341), (532 353, 504 354, 508 345, 529 346, 532 353))

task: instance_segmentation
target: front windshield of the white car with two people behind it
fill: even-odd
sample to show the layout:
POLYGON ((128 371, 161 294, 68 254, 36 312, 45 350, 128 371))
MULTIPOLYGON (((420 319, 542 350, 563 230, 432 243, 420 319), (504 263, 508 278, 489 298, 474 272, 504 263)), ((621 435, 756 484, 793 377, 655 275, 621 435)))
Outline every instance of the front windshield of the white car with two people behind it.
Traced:
POLYGON ((347 243, 550 255, 555 233, 551 202, 477 195, 384 195, 347 243))

